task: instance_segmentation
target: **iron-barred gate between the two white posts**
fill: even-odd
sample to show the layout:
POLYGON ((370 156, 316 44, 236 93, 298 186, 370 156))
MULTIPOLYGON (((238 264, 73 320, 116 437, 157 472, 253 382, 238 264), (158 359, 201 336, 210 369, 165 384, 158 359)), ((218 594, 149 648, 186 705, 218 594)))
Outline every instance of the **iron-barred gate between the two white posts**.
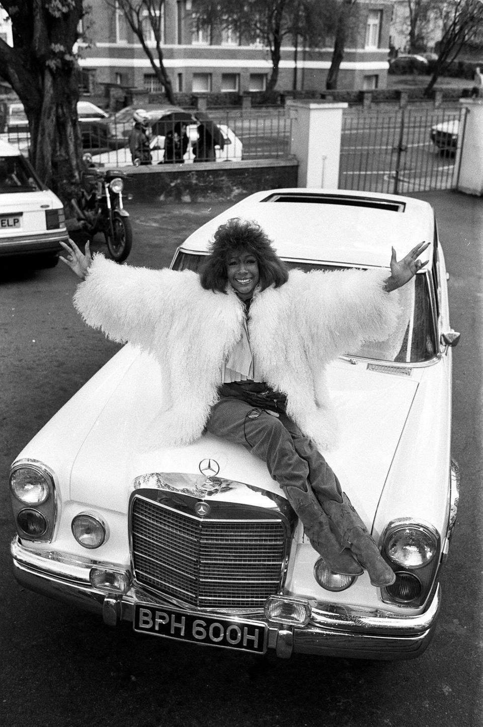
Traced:
POLYGON ((343 116, 340 189, 404 194, 458 185, 466 109, 402 108, 343 116))

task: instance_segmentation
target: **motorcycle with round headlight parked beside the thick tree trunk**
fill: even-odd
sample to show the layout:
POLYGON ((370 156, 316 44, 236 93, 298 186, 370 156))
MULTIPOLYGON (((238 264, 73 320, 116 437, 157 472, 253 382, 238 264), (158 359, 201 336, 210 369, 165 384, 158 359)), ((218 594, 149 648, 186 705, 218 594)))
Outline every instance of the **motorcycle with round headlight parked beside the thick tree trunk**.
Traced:
POLYGON ((123 262, 132 247, 132 227, 129 212, 122 204, 126 177, 119 169, 100 169, 84 157, 87 169, 81 177, 81 198, 73 199, 81 229, 89 238, 102 232, 111 260, 123 262))

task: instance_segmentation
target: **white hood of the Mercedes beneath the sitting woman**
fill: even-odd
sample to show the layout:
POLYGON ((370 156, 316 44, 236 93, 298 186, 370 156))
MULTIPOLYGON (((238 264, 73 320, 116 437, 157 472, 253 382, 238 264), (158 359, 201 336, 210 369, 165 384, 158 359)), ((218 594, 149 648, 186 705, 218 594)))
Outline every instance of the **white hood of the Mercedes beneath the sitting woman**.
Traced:
MULTIPOLYGON (((341 443, 325 456, 368 525, 418 388, 418 380, 406 369, 406 374, 393 371, 390 366, 374 371, 367 362, 354 365, 342 359, 328 371, 341 443)), ((148 356, 135 358, 79 446, 71 470, 71 499, 127 512, 135 477, 156 472, 199 475, 206 458, 217 461, 222 478, 280 494, 264 462, 209 433, 190 446, 145 451, 145 422, 156 411, 159 375, 148 356)), ((223 499, 223 494, 217 497, 223 499)))

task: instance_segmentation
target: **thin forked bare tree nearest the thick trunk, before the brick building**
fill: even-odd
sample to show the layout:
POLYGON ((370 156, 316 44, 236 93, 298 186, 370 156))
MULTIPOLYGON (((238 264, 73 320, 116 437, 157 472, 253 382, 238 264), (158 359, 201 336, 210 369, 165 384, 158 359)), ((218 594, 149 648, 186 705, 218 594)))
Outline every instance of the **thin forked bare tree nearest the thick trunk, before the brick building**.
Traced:
POLYGON ((106 0, 116 11, 124 14, 129 28, 139 40, 156 78, 164 89, 169 103, 175 103, 172 81, 164 68, 163 44, 164 0, 106 0), (154 43, 149 40, 152 36, 154 43))

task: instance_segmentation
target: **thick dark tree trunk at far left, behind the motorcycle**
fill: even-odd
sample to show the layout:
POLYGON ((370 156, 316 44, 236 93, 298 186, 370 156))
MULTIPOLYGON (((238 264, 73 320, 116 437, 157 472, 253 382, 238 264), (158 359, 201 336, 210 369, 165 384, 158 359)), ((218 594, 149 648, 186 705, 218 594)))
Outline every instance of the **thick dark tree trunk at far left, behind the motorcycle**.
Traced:
POLYGON ((30 159, 65 204, 79 187, 79 66, 73 54, 82 0, 1 0, 13 47, 0 39, 0 76, 23 103, 30 159))

